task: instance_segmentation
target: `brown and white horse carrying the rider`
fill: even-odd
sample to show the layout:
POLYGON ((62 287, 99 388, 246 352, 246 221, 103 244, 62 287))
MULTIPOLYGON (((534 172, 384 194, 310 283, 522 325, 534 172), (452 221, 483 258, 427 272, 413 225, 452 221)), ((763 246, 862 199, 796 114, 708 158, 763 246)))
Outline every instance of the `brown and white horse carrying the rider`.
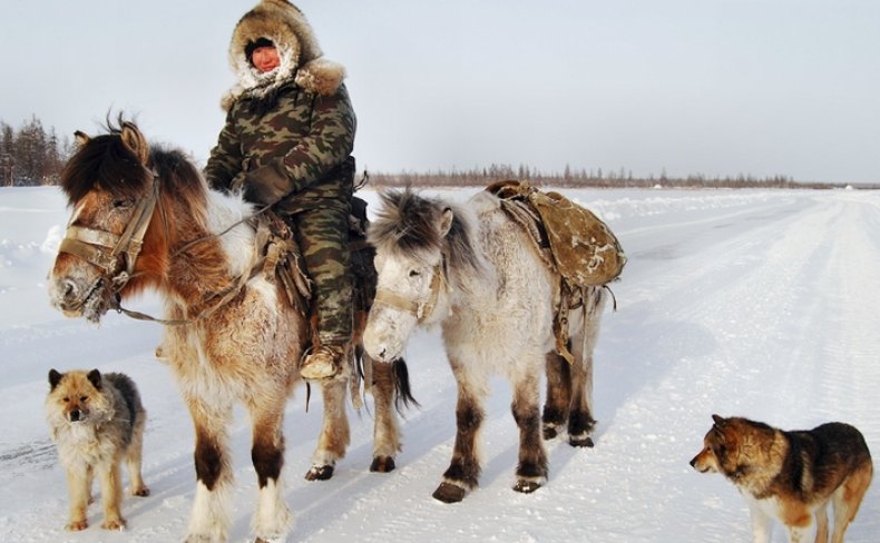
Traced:
MULTIPOLYGON (((306 319, 280 282, 251 273, 260 248, 254 228, 242 221, 254 211, 250 204, 209 190, 185 155, 150 147, 121 117, 108 129, 94 138, 77 132, 79 148, 61 178, 72 215, 50 274, 51 302, 68 316, 98 322, 119 300, 158 292, 165 318, 186 322, 166 326, 163 342, 195 423, 197 486, 186 541, 226 541, 233 480, 226 442, 236 402, 253 426, 256 540, 283 539, 291 513, 280 487, 282 422, 286 398, 301 381, 306 319)), ((351 375, 346 366, 320 384, 323 425, 306 478, 327 478, 345 454, 351 375)), ((373 471, 393 470, 400 448, 391 407, 395 377, 390 364, 372 367, 373 471)))

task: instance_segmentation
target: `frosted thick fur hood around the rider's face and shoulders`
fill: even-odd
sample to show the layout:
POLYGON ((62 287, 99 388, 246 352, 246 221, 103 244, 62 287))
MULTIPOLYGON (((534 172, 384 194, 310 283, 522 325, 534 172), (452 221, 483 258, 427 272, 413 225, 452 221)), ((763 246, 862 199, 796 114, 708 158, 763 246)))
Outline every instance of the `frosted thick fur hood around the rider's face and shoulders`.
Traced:
POLYGON ((334 93, 345 78, 345 69, 322 55, 299 8, 286 0, 262 0, 233 30, 229 66, 238 83, 223 97, 223 109, 228 111, 242 97, 266 97, 290 81, 310 92, 334 93), (260 38, 272 40, 281 59, 281 66, 266 73, 254 68, 245 55, 247 45, 260 38))

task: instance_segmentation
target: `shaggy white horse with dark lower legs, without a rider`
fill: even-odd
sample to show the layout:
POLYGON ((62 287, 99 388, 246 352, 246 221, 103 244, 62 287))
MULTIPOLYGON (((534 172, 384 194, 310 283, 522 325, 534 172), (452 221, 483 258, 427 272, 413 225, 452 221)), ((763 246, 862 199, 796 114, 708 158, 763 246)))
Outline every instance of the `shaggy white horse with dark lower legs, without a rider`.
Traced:
POLYGON ((491 374, 506 376, 514 391, 511 408, 520 433, 514 490, 537 490, 547 481, 539 412, 545 369, 545 437, 567 422, 571 445, 593 445, 593 349, 604 289, 584 288, 578 307, 563 315, 574 356, 569 365, 558 354, 554 334, 559 279, 502 210, 501 200, 481 191, 458 206, 409 189, 383 192, 381 199, 368 231, 379 283, 364 347, 378 361, 393 361, 417 326, 440 324, 458 385, 452 461, 433 496, 459 502, 478 484, 476 440, 491 374))

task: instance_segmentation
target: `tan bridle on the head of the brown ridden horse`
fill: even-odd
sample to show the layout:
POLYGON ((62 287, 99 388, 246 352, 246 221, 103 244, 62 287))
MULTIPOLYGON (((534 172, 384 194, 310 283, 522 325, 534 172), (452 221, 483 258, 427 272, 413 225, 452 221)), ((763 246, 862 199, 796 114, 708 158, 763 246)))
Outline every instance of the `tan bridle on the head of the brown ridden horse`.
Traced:
POLYGON ((144 245, 144 236, 159 198, 158 174, 149 170, 149 175, 153 179, 153 189, 138 203, 121 235, 68 225, 58 251, 82 258, 104 272, 91 288, 84 293, 76 308, 82 307, 89 296, 106 284, 109 284, 116 297, 134 276, 135 264, 144 245))

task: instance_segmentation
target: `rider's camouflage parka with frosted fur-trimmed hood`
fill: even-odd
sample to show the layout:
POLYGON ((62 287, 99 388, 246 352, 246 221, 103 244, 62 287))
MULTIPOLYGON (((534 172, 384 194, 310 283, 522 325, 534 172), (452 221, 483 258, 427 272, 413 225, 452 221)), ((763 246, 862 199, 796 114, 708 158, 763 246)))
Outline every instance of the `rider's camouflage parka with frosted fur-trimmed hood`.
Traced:
POLYGON ((238 21, 229 43, 238 85, 223 99, 226 122, 205 175, 212 187, 243 188, 245 176, 274 162, 287 195, 275 209, 297 213, 348 206, 353 191, 356 118, 342 66, 322 57, 302 12, 284 0, 263 0, 238 21), (262 73, 245 53, 270 39, 281 66, 262 73))

